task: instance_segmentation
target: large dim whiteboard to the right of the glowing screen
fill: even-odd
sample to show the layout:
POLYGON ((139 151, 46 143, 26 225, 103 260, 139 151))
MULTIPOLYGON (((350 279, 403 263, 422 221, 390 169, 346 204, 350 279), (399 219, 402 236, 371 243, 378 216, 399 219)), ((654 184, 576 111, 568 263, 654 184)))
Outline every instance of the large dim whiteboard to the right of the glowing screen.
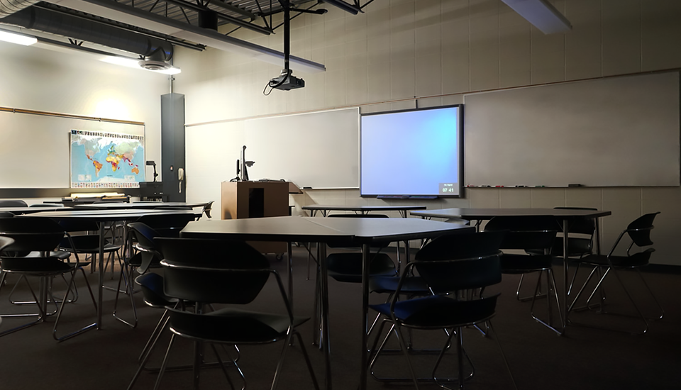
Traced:
POLYGON ((465 96, 471 186, 678 186, 679 74, 465 96))

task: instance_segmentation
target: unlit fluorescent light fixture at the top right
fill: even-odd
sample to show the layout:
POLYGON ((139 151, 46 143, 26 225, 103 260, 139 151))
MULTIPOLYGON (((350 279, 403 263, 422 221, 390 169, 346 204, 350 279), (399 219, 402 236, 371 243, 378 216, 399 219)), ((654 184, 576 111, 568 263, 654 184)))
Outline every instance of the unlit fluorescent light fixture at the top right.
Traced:
POLYGON ((542 33, 565 33, 572 30, 570 21, 546 0, 502 0, 542 33))

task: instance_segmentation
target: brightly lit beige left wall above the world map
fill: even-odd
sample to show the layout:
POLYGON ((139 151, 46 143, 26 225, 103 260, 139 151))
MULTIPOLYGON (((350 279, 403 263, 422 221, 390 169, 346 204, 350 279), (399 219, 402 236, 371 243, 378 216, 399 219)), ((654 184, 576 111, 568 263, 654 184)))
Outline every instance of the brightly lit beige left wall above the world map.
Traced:
MULTIPOLYGON (((145 158, 160 162, 160 95, 169 91, 167 76, 107 64, 100 57, 0 43, 0 106, 143 122, 145 158)), ((62 130, 66 135, 70 128, 62 130)), ((153 172, 145 174, 153 179, 153 172)))

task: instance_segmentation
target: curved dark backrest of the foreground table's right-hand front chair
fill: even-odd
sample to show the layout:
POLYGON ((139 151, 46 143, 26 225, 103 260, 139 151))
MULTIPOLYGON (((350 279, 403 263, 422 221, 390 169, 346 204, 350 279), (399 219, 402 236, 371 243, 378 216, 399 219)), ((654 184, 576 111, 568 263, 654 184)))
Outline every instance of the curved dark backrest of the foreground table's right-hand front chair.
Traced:
POLYGON ((499 244, 506 232, 457 233, 416 252, 414 267, 436 292, 478 289, 502 281, 499 244))

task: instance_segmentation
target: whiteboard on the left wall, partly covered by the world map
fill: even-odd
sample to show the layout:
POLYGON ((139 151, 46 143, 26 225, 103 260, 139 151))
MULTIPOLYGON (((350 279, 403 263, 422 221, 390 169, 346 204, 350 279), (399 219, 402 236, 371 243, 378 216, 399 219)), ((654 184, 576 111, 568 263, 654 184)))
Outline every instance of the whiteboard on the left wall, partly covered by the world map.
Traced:
POLYGON ((0 188, 70 188, 72 129, 144 135, 143 125, 0 111, 0 188))

